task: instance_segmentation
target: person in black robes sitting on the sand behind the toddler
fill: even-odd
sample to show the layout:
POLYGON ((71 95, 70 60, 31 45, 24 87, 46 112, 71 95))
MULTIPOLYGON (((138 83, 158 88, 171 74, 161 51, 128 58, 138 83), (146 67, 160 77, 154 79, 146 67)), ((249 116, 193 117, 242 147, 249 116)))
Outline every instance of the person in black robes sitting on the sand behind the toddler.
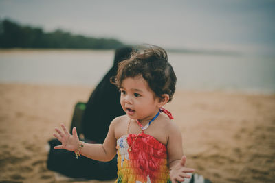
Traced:
MULTIPOLYGON (((118 63, 129 58, 131 51, 131 47, 115 51, 112 68, 91 93, 80 123, 84 141, 103 143, 111 121, 125 114, 120 105, 120 92, 115 85, 111 84, 110 78, 116 75, 118 63)), ((76 159, 74 152, 64 149, 54 150, 54 146, 61 144, 57 139, 50 140, 49 144, 47 168, 52 171, 70 178, 111 180, 117 177, 117 156, 110 162, 99 162, 85 156, 76 159)))

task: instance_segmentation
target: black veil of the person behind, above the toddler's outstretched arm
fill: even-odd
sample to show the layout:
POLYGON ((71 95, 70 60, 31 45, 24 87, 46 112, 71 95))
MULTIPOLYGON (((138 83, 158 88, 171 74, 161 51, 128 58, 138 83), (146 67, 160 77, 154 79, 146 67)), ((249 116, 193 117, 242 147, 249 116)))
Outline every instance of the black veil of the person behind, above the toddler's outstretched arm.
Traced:
POLYGON ((96 86, 87 102, 83 114, 82 125, 85 138, 103 143, 111 121, 125 114, 120 106, 120 93, 118 88, 111 84, 110 78, 116 74, 118 63, 131 54, 131 47, 124 47, 115 51, 113 67, 96 86))

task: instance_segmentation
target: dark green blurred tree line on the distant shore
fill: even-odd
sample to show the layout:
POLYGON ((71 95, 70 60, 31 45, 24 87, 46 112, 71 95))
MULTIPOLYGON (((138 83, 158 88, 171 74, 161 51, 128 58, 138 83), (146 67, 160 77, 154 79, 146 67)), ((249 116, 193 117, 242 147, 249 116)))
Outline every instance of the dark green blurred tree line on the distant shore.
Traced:
POLYGON ((0 48, 117 49, 123 46, 122 42, 113 38, 74 35, 61 29, 44 32, 39 27, 0 20, 0 48))

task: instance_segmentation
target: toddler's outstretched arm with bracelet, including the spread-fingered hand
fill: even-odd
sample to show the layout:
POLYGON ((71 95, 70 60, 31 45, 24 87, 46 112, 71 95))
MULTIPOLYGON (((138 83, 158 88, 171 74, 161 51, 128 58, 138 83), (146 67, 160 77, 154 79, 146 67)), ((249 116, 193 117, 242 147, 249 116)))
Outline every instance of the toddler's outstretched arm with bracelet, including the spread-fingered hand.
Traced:
MULTIPOLYGON (((99 161, 112 160, 116 153, 116 138, 114 126, 115 120, 112 121, 109 127, 109 132, 103 144, 90 144, 83 142, 83 147, 81 147, 80 154, 99 161)), ((58 139, 58 141, 61 141, 62 145, 58 145, 54 147, 54 149, 67 149, 68 151, 77 151, 80 141, 76 133, 76 127, 73 128, 72 135, 69 134, 65 125, 61 124, 61 127, 63 128, 64 132, 61 132, 61 130, 58 130, 58 128, 56 128, 56 132, 58 132, 58 134, 54 134, 54 136, 58 139)))

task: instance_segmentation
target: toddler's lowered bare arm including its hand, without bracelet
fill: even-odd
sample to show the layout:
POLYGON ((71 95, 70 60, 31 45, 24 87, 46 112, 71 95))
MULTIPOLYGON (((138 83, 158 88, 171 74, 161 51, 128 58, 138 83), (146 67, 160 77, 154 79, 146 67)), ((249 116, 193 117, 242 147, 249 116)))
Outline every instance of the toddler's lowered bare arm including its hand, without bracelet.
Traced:
POLYGON ((186 156, 183 155, 181 132, 175 123, 169 127, 167 149, 171 181, 176 183, 190 178, 187 173, 194 172, 194 169, 185 167, 186 156))

